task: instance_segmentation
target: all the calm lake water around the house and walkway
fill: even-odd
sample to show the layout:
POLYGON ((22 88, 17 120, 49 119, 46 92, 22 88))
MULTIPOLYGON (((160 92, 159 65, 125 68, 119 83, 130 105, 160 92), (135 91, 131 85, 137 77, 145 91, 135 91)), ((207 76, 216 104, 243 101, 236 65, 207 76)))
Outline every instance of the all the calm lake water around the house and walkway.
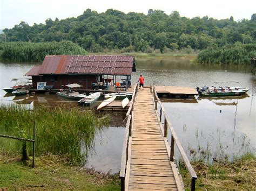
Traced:
MULTIPOLYGON (((13 85, 12 78, 24 77, 38 63, 0 63, 1 103, 36 103, 77 105, 52 94, 12 96, 5 94, 4 87, 13 85), (18 102, 17 102, 18 100, 18 102), (22 102, 21 102, 22 101, 22 102)), ((137 60, 137 72, 132 74, 132 83, 139 75, 145 77, 145 86, 210 86, 214 81, 239 81, 241 87, 250 88, 246 96, 197 98, 195 100, 161 98, 173 128, 190 159, 212 161, 221 157, 233 159, 247 151, 255 152, 255 90, 256 77, 245 73, 245 66, 197 65, 186 58, 169 60, 137 60)), ((249 71, 249 67, 247 68, 249 71)), ((117 115, 122 120, 123 114, 117 115)), ((113 124, 111 125, 113 126, 113 124)), ((120 124, 119 126, 124 126, 120 124)), ((95 147, 87 158, 87 167, 98 171, 116 173, 120 168, 124 128, 109 127, 98 132, 95 147)))

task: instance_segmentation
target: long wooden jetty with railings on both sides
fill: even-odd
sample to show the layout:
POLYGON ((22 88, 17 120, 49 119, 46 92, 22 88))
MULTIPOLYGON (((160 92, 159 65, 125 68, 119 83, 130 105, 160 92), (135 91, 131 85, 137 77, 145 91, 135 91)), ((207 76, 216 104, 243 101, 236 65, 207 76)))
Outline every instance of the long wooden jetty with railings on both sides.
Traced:
POLYGON ((119 175, 121 189, 184 190, 174 159, 176 143, 191 174, 191 190, 194 190, 197 175, 174 132, 156 89, 153 87, 138 91, 136 85, 126 116, 128 119, 119 175), (168 127, 171 131, 171 146, 167 141, 168 127))

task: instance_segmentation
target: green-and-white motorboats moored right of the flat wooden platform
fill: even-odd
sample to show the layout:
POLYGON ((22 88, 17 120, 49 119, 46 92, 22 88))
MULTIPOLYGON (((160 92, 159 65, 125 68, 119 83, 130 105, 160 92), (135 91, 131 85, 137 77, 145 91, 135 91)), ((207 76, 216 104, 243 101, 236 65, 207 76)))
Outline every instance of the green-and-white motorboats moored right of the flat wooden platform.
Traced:
POLYGON ((238 96, 249 90, 248 88, 241 88, 239 82, 236 81, 214 82, 211 87, 197 87, 200 96, 238 96), (233 86, 230 86, 231 83, 233 86))

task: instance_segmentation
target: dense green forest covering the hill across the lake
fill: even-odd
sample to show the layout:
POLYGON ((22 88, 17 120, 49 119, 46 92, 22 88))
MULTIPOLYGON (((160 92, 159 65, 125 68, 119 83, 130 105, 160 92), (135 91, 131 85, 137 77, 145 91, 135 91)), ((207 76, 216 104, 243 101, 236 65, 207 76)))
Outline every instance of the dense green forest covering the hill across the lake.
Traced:
POLYGON ((45 24, 33 26, 21 22, 3 32, 4 34, 0 34, 0 43, 69 40, 88 52, 122 49, 123 52, 150 53, 160 49, 164 53, 166 50, 184 48, 202 50, 238 43, 241 47, 255 44, 256 13, 250 20, 236 22, 232 16, 221 20, 207 16, 190 19, 181 17, 178 11, 167 15, 164 11, 150 9, 144 15, 135 12, 125 14, 113 9, 97 13, 87 9, 77 18, 49 18, 45 20, 45 24))

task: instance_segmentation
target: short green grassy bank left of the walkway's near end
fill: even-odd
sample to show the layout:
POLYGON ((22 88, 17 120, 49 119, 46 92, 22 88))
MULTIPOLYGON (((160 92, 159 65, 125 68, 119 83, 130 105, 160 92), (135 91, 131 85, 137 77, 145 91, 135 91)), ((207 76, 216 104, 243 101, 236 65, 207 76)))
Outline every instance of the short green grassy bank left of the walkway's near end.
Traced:
POLYGON ((0 189, 120 190, 117 175, 69 166, 58 155, 37 157, 35 168, 19 161, 19 158, 0 153, 0 189))

